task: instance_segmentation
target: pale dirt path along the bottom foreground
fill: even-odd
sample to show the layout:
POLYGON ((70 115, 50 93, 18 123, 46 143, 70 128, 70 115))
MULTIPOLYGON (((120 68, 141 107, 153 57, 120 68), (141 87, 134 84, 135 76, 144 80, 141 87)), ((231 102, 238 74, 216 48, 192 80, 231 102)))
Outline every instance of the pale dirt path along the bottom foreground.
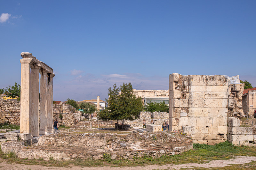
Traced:
POLYGON ((98 170, 98 169, 104 169, 104 170, 117 170, 117 169, 127 169, 127 170, 153 170, 153 169, 180 169, 180 168, 193 168, 193 167, 204 167, 204 168, 210 168, 210 167, 224 167, 228 166, 230 164, 245 164, 250 163, 251 161, 256 161, 256 157, 247 157, 247 156, 239 156, 235 159, 229 159, 229 160, 212 160, 209 163, 203 163, 203 164, 197 164, 197 163, 189 163, 189 164, 180 164, 180 165, 149 165, 149 166, 122 166, 122 167, 80 167, 80 166, 73 166, 73 167, 49 167, 49 166, 40 166, 40 165, 24 165, 24 164, 9 164, 5 160, 0 159, 0 169, 2 170, 44 170, 44 169, 52 169, 52 170, 98 170))

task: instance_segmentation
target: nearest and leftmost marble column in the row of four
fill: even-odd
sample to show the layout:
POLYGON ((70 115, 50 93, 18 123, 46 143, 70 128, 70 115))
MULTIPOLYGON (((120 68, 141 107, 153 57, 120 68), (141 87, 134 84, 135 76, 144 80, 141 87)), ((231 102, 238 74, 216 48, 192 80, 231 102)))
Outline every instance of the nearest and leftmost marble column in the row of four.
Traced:
POLYGON ((20 59, 20 133, 30 133, 31 120, 31 73, 30 64, 33 58, 20 59))

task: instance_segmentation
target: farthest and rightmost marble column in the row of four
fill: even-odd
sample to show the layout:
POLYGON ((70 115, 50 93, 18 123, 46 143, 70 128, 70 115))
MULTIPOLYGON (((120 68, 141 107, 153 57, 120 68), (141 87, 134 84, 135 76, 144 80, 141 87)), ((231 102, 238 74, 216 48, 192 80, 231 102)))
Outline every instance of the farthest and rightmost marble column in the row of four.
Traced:
POLYGON ((48 133, 53 133, 53 84, 52 78, 54 74, 47 74, 47 129, 48 133))

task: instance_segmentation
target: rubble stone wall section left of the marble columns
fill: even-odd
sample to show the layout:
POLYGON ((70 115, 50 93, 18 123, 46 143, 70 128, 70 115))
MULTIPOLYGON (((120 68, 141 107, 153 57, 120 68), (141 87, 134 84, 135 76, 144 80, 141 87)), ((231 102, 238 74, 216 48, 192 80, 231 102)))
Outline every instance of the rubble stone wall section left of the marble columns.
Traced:
POLYGON ((0 120, 20 125, 20 101, 0 100, 0 120))

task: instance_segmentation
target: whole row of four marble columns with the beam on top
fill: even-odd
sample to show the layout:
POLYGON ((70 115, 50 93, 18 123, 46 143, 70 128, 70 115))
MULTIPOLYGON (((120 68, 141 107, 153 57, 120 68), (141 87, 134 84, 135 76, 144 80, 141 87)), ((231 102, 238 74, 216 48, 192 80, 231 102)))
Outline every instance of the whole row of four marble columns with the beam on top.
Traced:
POLYGON ((39 61, 31 53, 21 53, 20 133, 52 133, 53 129, 53 69, 39 61), (39 121, 39 72, 40 121, 39 121), (40 127, 39 127, 40 124, 40 127))

